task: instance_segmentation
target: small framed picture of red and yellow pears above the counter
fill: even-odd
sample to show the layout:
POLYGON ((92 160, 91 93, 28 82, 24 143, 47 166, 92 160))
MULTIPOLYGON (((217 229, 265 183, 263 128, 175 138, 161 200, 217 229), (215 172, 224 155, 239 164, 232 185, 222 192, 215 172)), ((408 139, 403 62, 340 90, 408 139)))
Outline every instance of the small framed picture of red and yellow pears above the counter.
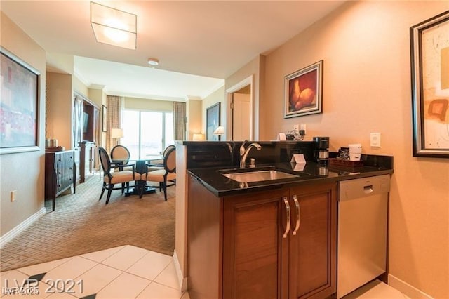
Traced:
POLYGON ((284 118, 323 112, 323 60, 286 76, 284 98, 284 118))

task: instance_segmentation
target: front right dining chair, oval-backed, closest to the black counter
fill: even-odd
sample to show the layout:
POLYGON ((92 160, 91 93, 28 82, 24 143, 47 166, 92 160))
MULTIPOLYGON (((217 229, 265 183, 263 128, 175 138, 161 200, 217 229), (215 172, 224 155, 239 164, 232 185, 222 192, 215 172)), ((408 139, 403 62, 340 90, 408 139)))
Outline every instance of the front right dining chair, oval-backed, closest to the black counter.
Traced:
POLYGON ((142 174, 142 180, 144 176, 147 182, 159 182, 159 191, 163 190, 163 196, 167 200, 167 187, 176 185, 176 147, 173 145, 166 151, 162 169, 142 174))

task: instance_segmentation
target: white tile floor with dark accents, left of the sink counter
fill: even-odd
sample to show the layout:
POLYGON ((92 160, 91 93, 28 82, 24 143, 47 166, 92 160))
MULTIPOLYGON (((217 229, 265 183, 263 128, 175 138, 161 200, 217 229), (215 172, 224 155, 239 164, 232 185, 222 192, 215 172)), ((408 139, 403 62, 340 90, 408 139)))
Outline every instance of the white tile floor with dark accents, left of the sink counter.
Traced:
POLYGON ((2 298, 189 299, 171 256, 129 245, 1 272, 0 286, 2 298), (27 279, 22 291, 34 295, 7 295, 27 279))

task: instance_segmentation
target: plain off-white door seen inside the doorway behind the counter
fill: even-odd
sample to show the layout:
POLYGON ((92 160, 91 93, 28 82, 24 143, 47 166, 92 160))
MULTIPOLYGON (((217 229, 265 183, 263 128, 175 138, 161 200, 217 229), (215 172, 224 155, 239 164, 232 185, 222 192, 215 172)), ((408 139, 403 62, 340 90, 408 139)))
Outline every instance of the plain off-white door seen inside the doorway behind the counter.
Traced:
POLYGON ((251 96, 247 93, 233 93, 232 140, 249 140, 251 138, 250 115, 251 96))

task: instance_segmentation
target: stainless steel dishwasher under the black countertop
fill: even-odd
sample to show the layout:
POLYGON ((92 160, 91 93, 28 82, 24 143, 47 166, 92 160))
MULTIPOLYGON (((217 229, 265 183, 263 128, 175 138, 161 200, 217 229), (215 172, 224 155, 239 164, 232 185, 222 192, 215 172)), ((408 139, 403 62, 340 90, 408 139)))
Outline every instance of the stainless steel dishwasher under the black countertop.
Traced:
POLYGON ((389 190, 389 175, 339 183, 337 298, 386 271, 389 190))

